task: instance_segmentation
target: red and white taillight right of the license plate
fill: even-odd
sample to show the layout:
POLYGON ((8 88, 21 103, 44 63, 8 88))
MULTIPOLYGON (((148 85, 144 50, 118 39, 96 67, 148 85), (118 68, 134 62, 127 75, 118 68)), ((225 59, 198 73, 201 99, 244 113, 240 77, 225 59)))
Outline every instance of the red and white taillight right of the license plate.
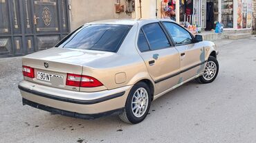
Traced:
POLYGON ((82 76, 77 74, 67 74, 66 85, 74 87, 100 87, 102 83, 91 76, 82 76))

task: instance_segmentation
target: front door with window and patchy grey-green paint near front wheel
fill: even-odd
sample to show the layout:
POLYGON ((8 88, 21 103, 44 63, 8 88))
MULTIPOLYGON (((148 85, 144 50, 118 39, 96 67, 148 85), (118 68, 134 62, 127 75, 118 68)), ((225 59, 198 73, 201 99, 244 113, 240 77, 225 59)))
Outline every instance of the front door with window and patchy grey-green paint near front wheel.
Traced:
POLYGON ((180 25, 172 22, 163 22, 163 25, 171 35, 180 54, 181 82, 203 72, 205 64, 204 47, 200 43, 194 43, 190 32, 180 25))

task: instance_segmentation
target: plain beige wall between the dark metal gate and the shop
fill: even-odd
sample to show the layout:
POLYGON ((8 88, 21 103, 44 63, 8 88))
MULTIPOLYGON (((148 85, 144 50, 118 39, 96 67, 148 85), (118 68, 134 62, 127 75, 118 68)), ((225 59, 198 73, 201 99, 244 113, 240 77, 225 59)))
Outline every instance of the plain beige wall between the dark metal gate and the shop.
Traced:
MULTIPOLYGON (((156 8, 158 8, 158 18, 161 18, 161 0, 141 0, 141 11, 143 19, 156 18, 156 8)), ((120 0, 121 5, 125 5, 125 0, 120 0)), ((80 25, 104 19, 139 19, 139 0, 135 0, 135 12, 116 13, 116 0, 69 0, 71 5, 70 21, 71 31, 80 25)))

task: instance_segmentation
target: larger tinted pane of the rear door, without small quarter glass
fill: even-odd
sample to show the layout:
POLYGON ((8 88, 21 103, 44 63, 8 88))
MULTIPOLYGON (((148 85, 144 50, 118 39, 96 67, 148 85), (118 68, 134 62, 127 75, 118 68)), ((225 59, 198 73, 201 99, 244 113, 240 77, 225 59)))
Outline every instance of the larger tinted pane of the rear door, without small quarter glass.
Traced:
POLYGON ((160 50, 165 47, 170 47, 170 43, 158 23, 143 26, 143 31, 149 41, 150 50, 160 50))

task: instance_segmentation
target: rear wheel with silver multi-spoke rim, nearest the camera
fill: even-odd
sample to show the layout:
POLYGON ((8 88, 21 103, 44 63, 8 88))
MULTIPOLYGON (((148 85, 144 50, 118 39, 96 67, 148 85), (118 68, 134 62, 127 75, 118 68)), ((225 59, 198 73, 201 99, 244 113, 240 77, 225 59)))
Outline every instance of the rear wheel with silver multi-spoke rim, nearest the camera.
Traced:
POLYGON ((134 87, 131 88, 131 91, 129 92, 127 101, 125 103, 125 109, 122 113, 120 113, 119 118, 129 124, 138 124, 139 122, 142 122, 146 118, 147 113, 149 112, 151 100, 152 93, 149 89, 149 86, 143 82, 137 83, 136 85, 134 85, 134 87), (142 91, 144 93, 147 93, 140 94, 143 93, 142 91), (143 95, 145 95, 144 98, 140 97, 143 95), (134 96, 136 96, 137 98, 134 96), (132 108, 134 108, 134 110, 132 108))

